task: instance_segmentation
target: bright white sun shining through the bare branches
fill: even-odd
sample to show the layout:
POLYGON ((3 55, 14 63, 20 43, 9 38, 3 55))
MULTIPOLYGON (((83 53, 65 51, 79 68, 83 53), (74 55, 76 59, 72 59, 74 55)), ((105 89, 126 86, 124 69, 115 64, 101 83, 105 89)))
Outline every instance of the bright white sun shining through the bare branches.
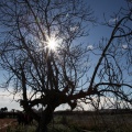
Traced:
POLYGON ((55 41, 55 38, 48 38, 47 41, 47 47, 52 51, 56 51, 57 47, 57 42, 55 41))

